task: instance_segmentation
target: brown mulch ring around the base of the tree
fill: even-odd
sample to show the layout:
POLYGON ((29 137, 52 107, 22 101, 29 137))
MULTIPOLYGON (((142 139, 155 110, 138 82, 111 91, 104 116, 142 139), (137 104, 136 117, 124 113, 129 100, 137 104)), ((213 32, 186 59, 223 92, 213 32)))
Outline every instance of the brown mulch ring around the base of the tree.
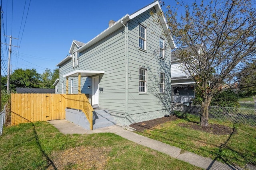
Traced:
POLYGON ((217 124, 209 124, 208 126, 200 126, 198 123, 187 122, 187 123, 179 123, 181 127, 186 127, 189 129, 194 129, 202 132, 212 133, 214 135, 230 135, 236 129, 233 129, 224 125, 217 124))

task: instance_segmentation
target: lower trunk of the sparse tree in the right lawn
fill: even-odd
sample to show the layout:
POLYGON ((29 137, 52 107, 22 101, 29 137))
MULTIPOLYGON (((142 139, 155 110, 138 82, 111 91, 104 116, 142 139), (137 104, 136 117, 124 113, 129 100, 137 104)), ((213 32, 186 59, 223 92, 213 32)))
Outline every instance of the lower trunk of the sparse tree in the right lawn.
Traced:
POLYGON ((212 97, 207 96, 204 101, 202 101, 201 105, 201 118, 200 118, 200 125, 201 126, 208 126, 208 113, 209 113, 209 105, 212 100, 212 97))

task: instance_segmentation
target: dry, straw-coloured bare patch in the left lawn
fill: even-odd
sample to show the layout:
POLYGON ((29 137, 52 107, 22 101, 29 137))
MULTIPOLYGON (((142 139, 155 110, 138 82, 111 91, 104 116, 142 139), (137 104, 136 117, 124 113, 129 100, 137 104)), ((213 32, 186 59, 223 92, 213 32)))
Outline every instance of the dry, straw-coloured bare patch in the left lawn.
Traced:
MULTIPOLYGON (((53 164, 60 170, 102 170, 108 160, 107 154, 110 150, 111 148, 89 146, 70 148, 53 153, 53 164)), ((54 166, 49 166, 48 170, 54 170, 54 166)))

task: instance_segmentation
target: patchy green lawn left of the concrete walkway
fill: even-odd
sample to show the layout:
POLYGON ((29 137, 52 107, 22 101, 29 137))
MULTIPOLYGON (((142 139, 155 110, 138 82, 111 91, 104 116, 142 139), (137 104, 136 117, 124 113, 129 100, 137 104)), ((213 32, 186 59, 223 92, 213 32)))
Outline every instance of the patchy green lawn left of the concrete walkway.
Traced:
POLYGON ((64 165, 59 169, 95 170, 98 169, 97 161, 101 164, 98 159, 102 159, 102 156, 106 156, 103 168, 110 170, 200 169, 112 133, 64 135, 47 122, 4 127, 0 148, 1 170, 57 168, 56 161, 60 160, 64 161, 64 165), (78 148, 83 150, 79 151, 78 148), (95 158, 93 155, 97 153, 99 157, 95 158), (87 162, 72 162, 70 158, 77 154, 87 156, 84 159, 87 162), (85 168, 89 158, 92 159, 92 166, 85 168))

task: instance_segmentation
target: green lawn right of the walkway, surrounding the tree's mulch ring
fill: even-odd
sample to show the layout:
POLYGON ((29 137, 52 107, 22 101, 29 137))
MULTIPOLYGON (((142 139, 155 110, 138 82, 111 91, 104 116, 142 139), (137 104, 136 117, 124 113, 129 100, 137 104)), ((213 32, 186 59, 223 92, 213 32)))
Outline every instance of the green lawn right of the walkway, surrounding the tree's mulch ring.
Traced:
POLYGON ((232 135, 213 135, 178 125, 189 121, 199 122, 199 118, 187 115, 184 119, 170 121, 139 134, 228 164, 242 167, 247 163, 256 164, 255 127, 210 120, 209 123, 229 126, 237 131, 232 135))

